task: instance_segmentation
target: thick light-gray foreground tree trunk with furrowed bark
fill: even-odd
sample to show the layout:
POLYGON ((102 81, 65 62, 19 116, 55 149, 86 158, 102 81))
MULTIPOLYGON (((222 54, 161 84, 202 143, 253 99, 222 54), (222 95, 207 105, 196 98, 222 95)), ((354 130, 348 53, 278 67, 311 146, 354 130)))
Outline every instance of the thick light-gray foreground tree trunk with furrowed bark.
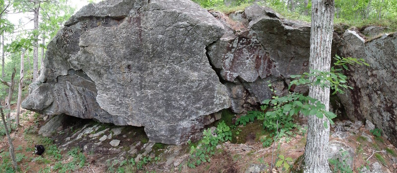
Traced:
MULTIPOLYGON (((310 34, 310 69, 330 71, 333 33, 333 0, 312 0, 312 24, 310 34)), ((309 96, 321 101, 329 110, 330 88, 310 86, 309 96)), ((327 117, 308 117, 308 134, 305 147, 304 173, 330 173, 328 143, 330 122, 327 117), (326 123, 327 127, 323 124, 326 123)))

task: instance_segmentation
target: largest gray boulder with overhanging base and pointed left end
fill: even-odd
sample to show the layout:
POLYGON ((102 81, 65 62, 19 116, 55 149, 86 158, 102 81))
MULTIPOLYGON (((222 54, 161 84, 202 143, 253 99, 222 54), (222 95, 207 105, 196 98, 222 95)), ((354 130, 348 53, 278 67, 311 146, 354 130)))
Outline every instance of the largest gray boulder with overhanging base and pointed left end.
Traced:
POLYGON ((190 0, 105 0, 73 15, 49 43, 31 111, 144 126, 181 144, 204 115, 230 107, 206 57, 223 25, 190 0))

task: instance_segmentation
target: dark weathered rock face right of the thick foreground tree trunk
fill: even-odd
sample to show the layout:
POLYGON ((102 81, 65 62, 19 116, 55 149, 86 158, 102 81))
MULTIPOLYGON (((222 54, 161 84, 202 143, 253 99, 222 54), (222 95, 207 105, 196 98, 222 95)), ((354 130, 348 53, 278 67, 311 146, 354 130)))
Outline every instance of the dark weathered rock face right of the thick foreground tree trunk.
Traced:
POLYGON ((346 114, 354 120, 371 121, 396 146, 396 33, 365 42, 355 31, 346 31, 342 39, 341 56, 363 58, 369 64, 345 71, 349 85, 353 87, 353 90, 338 95, 346 114))

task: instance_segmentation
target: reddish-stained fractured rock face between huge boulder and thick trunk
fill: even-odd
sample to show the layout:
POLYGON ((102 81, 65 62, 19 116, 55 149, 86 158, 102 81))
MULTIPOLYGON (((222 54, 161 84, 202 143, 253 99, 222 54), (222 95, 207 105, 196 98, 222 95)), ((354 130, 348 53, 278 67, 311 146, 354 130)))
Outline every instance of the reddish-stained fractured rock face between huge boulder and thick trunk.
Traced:
POLYGON ((282 95, 288 92, 289 75, 308 71, 310 24, 280 20, 259 5, 247 7, 235 21, 244 28, 235 29, 237 24, 231 26, 233 22, 222 15, 212 14, 229 29, 207 50, 228 88, 233 112, 245 113, 269 99, 273 93, 267 81, 282 95))

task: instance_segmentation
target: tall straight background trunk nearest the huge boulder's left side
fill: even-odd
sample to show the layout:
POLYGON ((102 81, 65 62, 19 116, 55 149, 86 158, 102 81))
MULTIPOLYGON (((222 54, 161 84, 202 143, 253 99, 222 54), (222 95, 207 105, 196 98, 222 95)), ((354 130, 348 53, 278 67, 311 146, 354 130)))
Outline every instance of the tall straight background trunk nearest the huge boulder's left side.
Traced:
MULTIPOLYGON (((34 30, 38 32, 39 30, 39 8, 40 8, 40 3, 39 0, 34 1, 34 30)), ((33 41, 33 82, 36 81, 37 79, 37 74, 38 74, 38 59, 39 59, 39 34, 35 33, 34 35, 34 41, 33 41)))

